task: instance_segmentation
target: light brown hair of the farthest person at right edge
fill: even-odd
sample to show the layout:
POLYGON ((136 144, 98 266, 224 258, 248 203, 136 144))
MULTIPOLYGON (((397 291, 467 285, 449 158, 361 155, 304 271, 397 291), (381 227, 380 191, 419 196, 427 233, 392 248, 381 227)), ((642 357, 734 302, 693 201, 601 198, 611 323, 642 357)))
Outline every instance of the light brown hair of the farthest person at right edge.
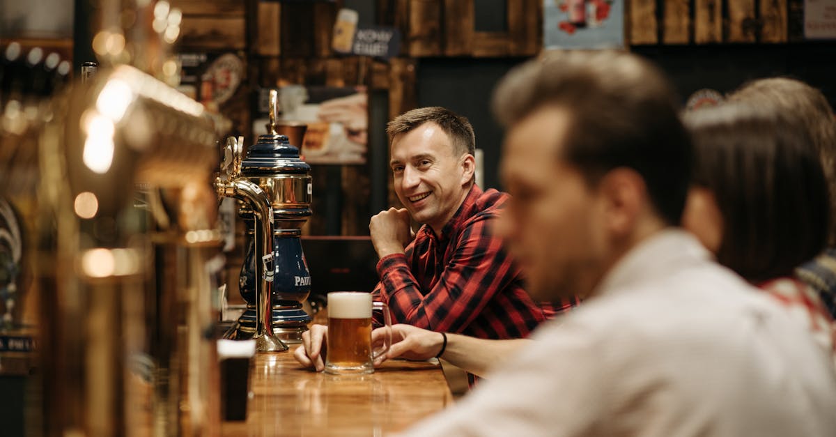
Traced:
MULTIPOLYGON (((809 131, 830 185, 831 214, 836 216, 836 115, 827 97, 801 80, 773 77, 747 82, 728 100, 775 111, 809 131)), ((829 241, 836 244, 836 221, 829 241)))

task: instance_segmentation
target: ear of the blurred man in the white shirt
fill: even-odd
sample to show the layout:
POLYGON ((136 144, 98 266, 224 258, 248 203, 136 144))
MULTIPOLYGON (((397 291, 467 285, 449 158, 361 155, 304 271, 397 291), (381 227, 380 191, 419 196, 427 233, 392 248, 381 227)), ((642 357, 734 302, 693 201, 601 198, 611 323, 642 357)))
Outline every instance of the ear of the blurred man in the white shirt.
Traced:
POLYGON ((650 208, 645 180, 630 168, 615 168, 599 183, 604 200, 605 223, 613 236, 628 236, 650 208))

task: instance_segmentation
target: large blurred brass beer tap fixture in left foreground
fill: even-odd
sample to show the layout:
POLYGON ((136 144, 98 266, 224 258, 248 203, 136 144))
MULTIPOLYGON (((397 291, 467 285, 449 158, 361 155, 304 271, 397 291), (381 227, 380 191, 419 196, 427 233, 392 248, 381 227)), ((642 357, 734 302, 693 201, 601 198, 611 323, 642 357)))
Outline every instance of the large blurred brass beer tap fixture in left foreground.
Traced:
POLYGON ((217 433, 214 126, 128 65, 52 107, 38 160, 43 434, 217 433))

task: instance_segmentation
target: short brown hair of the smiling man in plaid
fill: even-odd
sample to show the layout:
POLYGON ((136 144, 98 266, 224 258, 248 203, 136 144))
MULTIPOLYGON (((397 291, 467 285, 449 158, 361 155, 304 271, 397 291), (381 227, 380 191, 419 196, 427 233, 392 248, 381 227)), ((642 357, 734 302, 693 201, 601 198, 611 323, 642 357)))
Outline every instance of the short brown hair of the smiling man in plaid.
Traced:
POLYGON ((450 137, 454 155, 461 157, 466 153, 476 154, 476 136, 473 134, 470 121, 441 106, 418 108, 395 117, 395 120, 390 121, 386 126, 389 145, 392 145, 392 139, 395 136, 412 131, 427 122, 441 126, 441 130, 450 137))

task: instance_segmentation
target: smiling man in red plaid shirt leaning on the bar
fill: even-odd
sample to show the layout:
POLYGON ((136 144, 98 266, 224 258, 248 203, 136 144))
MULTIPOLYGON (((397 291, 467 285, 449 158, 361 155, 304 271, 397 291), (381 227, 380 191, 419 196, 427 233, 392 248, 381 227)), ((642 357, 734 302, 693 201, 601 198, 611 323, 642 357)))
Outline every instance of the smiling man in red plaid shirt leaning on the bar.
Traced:
POLYGON ((568 308, 538 306, 520 270, 491 232, 508 195, 474 183, 469 121, 441 107, 419 108, 389 123, 390 167, 405 208, 369 224, 380 256, 375 299, 400 323, 480 338, 526 337, 568 308), (410 218, 424 224, 410 231, 410 218))

